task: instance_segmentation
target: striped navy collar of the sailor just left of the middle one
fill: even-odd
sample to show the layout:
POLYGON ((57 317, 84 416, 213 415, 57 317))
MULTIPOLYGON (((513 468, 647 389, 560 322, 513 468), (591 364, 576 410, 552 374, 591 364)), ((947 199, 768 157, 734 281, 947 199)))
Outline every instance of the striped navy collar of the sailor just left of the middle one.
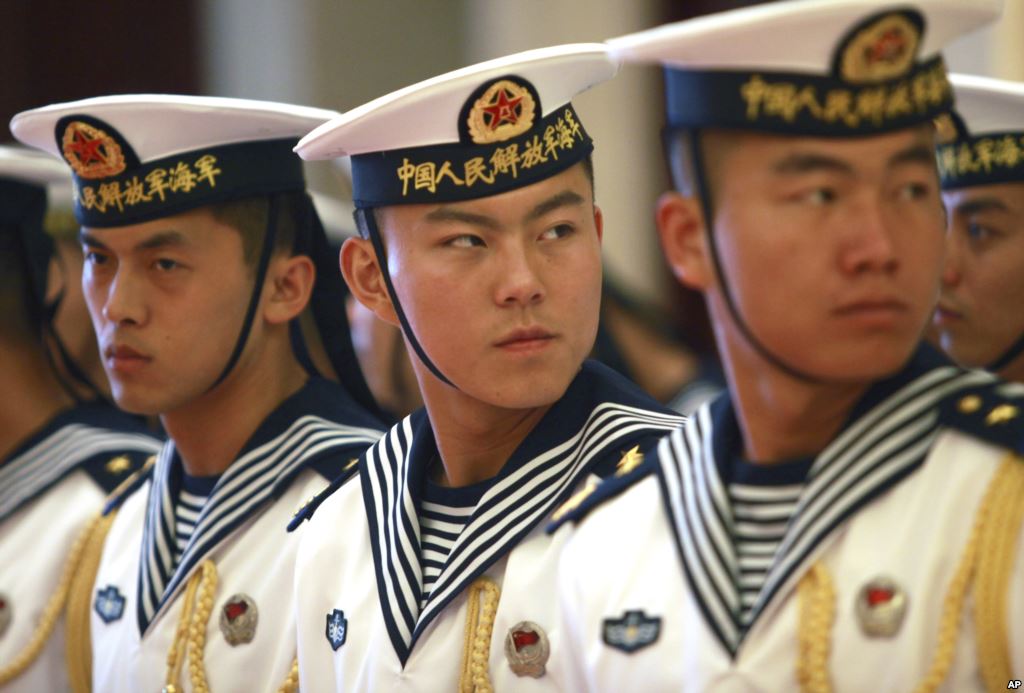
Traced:
POLYGON ((138 574, 139 633, 145 633, 196 566, 281 497, 300 472, 313 469, 327 480, 334 478, 380 438, 381 429, 380 422, 341 386, 310 378, 270 413, 217 480, 176 565, 171 548, 182 466, 173 441, 168 441, 157 459, 146 500, 138 574))

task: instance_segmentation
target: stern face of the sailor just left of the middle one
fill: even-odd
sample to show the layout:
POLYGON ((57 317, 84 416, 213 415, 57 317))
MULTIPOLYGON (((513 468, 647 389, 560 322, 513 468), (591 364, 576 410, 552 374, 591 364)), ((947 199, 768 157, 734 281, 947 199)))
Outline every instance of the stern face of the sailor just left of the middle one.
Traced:
POLYGON ((206 210, 82 229, 82 288, 118 405, 168 414, 227 362, 250 293, 242 236, 206 210))

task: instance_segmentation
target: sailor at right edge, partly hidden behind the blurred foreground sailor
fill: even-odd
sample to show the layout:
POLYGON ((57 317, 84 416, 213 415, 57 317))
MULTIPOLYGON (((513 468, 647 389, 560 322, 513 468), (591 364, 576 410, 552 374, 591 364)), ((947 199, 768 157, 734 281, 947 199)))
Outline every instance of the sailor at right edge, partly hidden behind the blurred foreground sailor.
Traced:
POLYGON ((1024 382, 1024 84, 951 75, 938 148, 949 225, 935 329, 957 363, 1024 382))

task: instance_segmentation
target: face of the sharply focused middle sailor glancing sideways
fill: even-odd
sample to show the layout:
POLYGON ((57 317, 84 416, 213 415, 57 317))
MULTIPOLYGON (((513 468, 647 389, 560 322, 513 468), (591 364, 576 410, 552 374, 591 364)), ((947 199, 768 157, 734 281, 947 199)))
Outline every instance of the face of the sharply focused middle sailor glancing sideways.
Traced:
POLYGON ((508 408, 564 393, 601 296, 601 217, 582 165, 490 198, 382 209, 380 225, 413 332, 463 393, 508 408))

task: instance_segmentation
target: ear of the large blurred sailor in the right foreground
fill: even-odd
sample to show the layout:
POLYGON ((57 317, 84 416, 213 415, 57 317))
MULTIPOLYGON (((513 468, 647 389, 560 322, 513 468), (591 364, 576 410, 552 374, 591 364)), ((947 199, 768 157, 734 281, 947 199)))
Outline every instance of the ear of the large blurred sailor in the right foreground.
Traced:
POLYGON ((691 289, 709 289, 714 284, 715 269, 697 200, 666 192, 657 201, 655 220, 672 273, 691 289))

